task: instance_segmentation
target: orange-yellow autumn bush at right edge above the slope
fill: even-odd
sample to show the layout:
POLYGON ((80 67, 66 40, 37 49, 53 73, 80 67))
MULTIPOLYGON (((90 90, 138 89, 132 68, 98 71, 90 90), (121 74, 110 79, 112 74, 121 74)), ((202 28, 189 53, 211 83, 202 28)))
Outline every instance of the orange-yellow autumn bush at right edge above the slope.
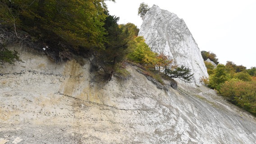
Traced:
POLYGON ((256 116, 256 79, 252 81, 238 79, 226 81, 221 85, 219 93, 256 116))

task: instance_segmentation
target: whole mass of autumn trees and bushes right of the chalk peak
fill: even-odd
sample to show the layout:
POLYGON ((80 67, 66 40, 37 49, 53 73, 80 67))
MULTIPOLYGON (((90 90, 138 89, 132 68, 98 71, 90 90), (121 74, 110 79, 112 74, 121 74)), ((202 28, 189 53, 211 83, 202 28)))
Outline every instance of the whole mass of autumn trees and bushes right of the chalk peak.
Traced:
MULTIPOLYGON (((218 60, 211 52, 202 51, 204 59, 218 60)), ((217 61, 216 61, 217 62, 217 61)), ((256 116, 256 67, 247 69, 231 61, 213 65, 206 63, 209 81, 206 84, 227 100, 256 116)))

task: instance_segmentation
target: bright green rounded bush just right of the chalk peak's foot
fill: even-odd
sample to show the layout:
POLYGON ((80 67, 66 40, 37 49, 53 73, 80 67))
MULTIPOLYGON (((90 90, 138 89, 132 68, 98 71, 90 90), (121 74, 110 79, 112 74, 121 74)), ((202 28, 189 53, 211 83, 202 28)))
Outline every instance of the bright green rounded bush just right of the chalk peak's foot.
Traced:
POLYGON ((230 79, 230 75, 223 64, 218 64, 214 74, 210 75, 208 86, 219 91, 220 85, 230 79))

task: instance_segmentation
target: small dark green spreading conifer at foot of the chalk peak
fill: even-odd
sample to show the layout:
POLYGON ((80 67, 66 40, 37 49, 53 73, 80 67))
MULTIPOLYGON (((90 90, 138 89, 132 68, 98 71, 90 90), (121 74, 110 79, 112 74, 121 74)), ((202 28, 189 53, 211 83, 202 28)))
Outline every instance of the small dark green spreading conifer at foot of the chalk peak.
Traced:
POLYGON ((191 74, 191 69, 183 65, 181 67, 175 67, 173 70, 167 68, 165 69, 165 73, 170 78, 179 78, 185 82, 191 82, 192 76, 194 75, 191 74))

